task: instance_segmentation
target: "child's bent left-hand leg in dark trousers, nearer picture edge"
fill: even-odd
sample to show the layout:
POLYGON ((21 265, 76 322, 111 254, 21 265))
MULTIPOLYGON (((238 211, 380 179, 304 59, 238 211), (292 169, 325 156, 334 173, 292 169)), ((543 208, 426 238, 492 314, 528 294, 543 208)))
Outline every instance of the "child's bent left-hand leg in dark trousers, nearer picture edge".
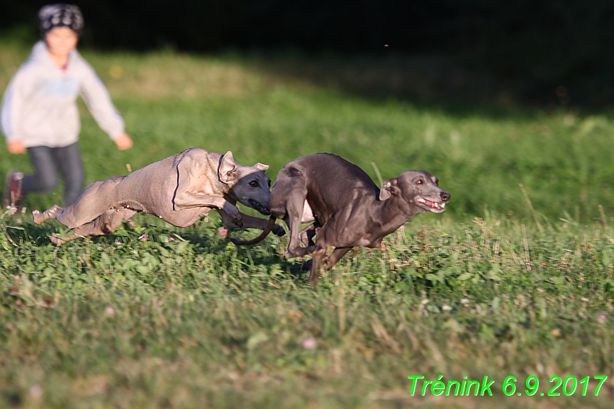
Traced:
POLYGON ((32 167, 33 175, 23 177, 21 192, 23 195, 28 192, 46 193, 52 191, 57 186, 57 168, 51 153, 52 148, 47 146, 28 147, 28 156, 32 167))

